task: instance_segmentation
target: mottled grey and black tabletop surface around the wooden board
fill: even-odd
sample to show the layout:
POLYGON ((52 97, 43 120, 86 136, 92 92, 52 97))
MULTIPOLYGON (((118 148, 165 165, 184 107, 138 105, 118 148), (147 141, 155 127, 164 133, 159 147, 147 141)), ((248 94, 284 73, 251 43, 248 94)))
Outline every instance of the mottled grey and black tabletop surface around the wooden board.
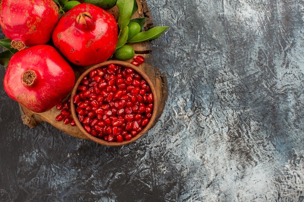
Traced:
POLYGON ((30 129, 1 82, 0 201, 304 201, 304 1, 147 2, 158 123, 113 148, 30 129))

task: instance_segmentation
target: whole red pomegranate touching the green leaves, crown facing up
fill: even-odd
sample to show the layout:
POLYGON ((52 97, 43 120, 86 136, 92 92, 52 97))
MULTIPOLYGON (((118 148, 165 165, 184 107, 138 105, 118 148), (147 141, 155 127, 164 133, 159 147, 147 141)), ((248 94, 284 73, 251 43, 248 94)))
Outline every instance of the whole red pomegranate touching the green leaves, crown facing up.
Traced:
POLYGON ((109 59, 117 45, 118 26, 107 11, 90 3, 81 3, 64 16, 55 27, 55 47, 72 63, 80 66, 109 59))

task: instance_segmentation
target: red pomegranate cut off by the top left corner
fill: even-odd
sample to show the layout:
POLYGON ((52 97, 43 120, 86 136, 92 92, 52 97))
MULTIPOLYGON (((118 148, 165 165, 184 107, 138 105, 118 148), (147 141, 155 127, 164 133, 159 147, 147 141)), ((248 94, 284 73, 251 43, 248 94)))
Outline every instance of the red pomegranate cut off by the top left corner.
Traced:
POLYGON ((59 9, 53 0, 0 2, 1 29, 18 50, 48 43, 58 20, 59 9))

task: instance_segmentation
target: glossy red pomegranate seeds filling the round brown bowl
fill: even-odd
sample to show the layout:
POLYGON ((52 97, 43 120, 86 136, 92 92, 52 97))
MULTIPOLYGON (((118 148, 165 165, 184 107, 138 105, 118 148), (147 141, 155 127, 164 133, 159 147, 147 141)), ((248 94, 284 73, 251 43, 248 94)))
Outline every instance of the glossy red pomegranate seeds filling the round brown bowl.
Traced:
POLYGON ((134 69, 109 64, 82 80, 73 97, 84 130, 106 141, 131 140, 149 123, 154 97, 134 69))

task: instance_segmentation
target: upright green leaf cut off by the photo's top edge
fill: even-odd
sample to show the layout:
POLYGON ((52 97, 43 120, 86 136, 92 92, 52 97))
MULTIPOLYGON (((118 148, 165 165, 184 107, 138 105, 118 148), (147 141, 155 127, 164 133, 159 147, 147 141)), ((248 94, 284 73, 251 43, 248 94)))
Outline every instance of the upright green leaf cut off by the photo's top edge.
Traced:
POLYGON ((118 26, 120 31, 128 26, 134 8, 134 0, 117 0, 116 5, 119 10, 118 26))

